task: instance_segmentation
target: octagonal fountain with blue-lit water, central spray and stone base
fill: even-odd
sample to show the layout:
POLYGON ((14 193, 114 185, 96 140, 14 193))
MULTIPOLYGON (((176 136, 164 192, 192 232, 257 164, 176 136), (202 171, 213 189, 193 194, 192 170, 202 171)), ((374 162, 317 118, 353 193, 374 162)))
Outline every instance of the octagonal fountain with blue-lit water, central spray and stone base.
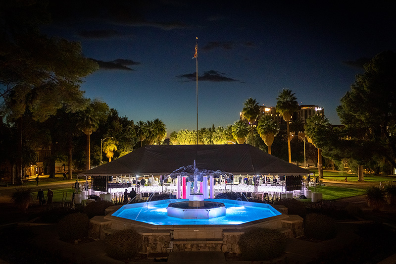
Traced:
MULTIPOLYGON (((111 213, 90 220, 91 228, 96 232, 92 231, 92 237, 103 239, 105 228, 133 228, 144 237, 146 242, 139 251, 146 254, 172 250, 241 253, 239 236, 251 227, 283 229, 289 237, 301 236, 302 218, 297 215, 283 214, 264 203, 204 199, 204 195, 198 193, 198 180, 201 180, 198 177, 214 175, 214 171, 198 170, 195 164, 186 167, 172 174, 178 176, 179 180, 180 175, 188 176, 189 183, 194 180, 194 193, 190 194, 189 199, 134 203, 121 208, 114 206, 108 209, 113 210, 111 213), (285 231, 285 228, 291 231, 285 231)), ((205 179, 202 179, 203 182, 205 179)))

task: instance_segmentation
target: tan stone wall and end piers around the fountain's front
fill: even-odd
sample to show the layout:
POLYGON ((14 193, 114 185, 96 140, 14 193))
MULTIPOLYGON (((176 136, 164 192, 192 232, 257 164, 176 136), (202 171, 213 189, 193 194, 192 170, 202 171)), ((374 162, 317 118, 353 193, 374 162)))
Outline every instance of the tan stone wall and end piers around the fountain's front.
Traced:
MULTIPOLYGON (((286 218, 280 220, 280 224, 274 224, 271 221, 260 223, 257 226, 279 230, 286 237, 301 237, 303 236, 303 219, 298 215, 288 215, 286 218)), ((236 229, 216 229, 215 227, 207 227, 208 230, 216 229, 222 233, 222 236, 214 235, 211 238, 200 238, 200 236, 188 236, 188 227, 183 230, 177 230, 180 234, 175 235, 175 231, 171 229, 145 229, 143 226, 138 228, 131 225, 121 224, 118 221, 111 221, 104 216, 95 216, 90 220, 89 235, 94 239, 104 239, 106 235, 111 234, 115 230, 123 230, 134 228, 142 235, 141 253, 166 253, 172 251, 222 251, 229 253, 241 253, 238 245, 239 238, 245 233, 246 228, 236 229), (184 235, 183 235, 184 234, 184 235), (171 239, 172 236, 172 239, 171 239), (172 242, 172 243, 171 243, 172 242), (173 245, 172 245, 173 244, 173 245)), ((197 227, 195 227, 197 228, 197 227)), ((200 231, 200 230, 199 230, 200 231)), ((199 232, 198 231, 198 232, 199 232)), ((197 233, 197 232, 194 232, 197 233)), ((210 233, 210 232, 209 232, 210 233)))

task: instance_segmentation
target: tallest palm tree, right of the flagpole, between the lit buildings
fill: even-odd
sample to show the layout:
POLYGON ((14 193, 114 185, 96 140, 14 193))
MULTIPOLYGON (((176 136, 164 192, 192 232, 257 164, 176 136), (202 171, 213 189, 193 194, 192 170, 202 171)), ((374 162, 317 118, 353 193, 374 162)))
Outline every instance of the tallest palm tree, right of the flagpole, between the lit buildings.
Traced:
POLYGON ((292 90, 283 89, 277 97, 276 111, 280 113, 283 120, 286 121, 287 125, 287 139, 288 139, 288 150, 289 150, 289 162, 292 163, 292 151, 290 148, 290 128, 289 122, 292 119, 293 112, 298 109, 297 98, 292 93, 292 90))

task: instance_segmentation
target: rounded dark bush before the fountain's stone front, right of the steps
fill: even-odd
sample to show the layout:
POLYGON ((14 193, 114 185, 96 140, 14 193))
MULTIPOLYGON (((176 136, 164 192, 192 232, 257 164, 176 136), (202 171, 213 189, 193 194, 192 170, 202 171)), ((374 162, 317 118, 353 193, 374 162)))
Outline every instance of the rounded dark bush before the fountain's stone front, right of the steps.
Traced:
POLYGON ((254 227, 241 235, 238 245, 244 260, 265 261, 284 254, 286 239, 276 230, 254 227))

